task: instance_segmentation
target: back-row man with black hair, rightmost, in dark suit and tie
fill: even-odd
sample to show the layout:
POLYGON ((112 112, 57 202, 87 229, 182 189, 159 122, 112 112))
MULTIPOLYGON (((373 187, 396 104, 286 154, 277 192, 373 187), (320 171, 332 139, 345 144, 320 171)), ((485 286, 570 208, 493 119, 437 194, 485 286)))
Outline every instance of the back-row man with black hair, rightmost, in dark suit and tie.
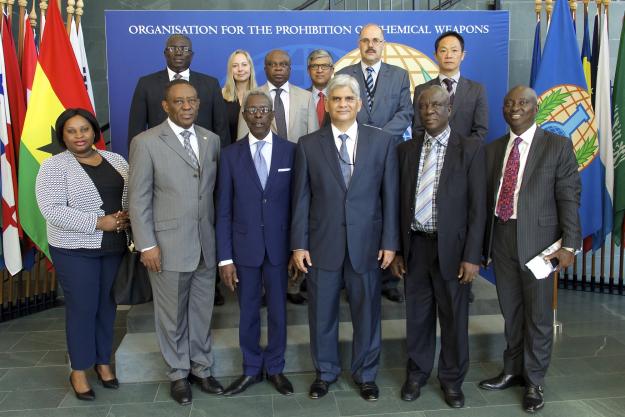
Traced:
MULTIPOLYGON (((418 113, 419 94, 432 85, 440 85, 451 97, 449 125, 452 130, 465 138, 483 141, 488 133, 488 100, 482 84, 460 75, 460 63, 465 57, 464 38, 454 31, 441 34, 434 43, 434 57, 438 62, 439 74, 415 88, 415 114, 418 113)), ((413 137, 422 135, 423 131, 421 119, 415 117, 412 124, 413 137)))

